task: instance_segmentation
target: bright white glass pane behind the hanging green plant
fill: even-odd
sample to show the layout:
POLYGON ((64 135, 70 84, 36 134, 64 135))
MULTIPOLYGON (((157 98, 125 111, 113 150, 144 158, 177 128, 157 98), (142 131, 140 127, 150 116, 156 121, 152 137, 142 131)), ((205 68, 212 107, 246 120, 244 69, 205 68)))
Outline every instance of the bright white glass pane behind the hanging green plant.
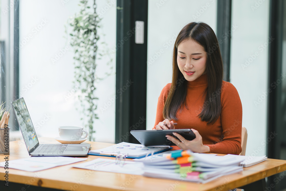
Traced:
MULTIPOLYGON (((67 24, 69 17, 80 11, 78 2, 69 0, 20 2, 19 41, 22 44, 25 41, 27 43, 19 50, 19 89, 39 137, 58 137, 59 126, 83 126, 80 111, 75 109, 76 94, 72 94, 67 100, 64 97, 73 89, 74 80, 74 53, 68 44, 69 38, 66 38, 64 25, 67 24), (35 27, 38 27, 38 31, 34 29, 35 27), (59 54, 65 47, 68 50, 64 54, 59 54), (55 59, 56 55, 62 56, 53 63, 51 59, 55 59), (44 121, 47 119, 45 115, 49 116, 46 121, 44 121)), ((106 34, 105 37, 102 35, 100 37, 109 48, 113 48, 116 41, 116 1, 96 2, 97 11, 103 17, 103 27, 99 34, 106 34)), ((115 53, 110 53, 109 56, 113 58, 115 68, 115 53)), ((97 62, 97 75, 109 71, 105 62, 106 59, 97 62)), ((113 143, 115 102, 104 112, 101 112, 100 108, 115 95, 115 72, 96 84, 96 88, 96 95, 99 98, 97 110, 99 119, 94 124, 95 138, 96 141, 113 143)))

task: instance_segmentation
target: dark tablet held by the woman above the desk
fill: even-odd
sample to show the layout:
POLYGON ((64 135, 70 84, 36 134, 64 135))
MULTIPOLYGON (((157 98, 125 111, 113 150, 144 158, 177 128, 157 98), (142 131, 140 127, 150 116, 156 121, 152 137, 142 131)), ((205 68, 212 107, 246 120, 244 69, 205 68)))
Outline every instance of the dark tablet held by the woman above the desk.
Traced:
POLYGON ((186 140, 193 140, 196 138, 194 132, 190 129, 167 129, 167 130, 132 130, 130 133, 144 146, 172 146, 176 145, 168 140, 166 135, 172 135, 178 139, 173 132, 179 133, 186 140))

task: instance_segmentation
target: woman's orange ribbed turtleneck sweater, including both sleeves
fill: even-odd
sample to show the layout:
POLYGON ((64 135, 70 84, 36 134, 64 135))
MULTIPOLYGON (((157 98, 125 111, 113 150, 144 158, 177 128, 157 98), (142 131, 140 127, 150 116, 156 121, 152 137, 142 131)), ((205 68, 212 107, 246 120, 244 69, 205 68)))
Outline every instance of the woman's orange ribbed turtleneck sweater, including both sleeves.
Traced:
MULTIPOLYGON (((221 115, 214 124, 201 121, 198 115, 204 104, 204 91, 207 88, 207 76, 203 74, 194 81, 187 81, 186 104, 182 112, 177 111, 176 129, 195 129, 202 136, 202 143, 210 147, 210 153, 241 153, 242 105, 239 94, 233 84, 223 81, 221 88, 221 115)), ((158 99, 155 125, 163 121, 163 107, 170 91, 167 84, 158 99)))

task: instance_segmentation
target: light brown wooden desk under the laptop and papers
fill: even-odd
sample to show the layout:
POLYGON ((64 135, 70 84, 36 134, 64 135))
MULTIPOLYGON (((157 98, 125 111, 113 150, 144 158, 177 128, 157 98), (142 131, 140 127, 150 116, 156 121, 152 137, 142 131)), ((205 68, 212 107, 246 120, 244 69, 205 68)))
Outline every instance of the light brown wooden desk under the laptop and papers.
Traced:
MULTIPOLYGON (((39 138, 40 143, 58 143, 52 138, 39 138)), ((92 149, 101 149, 113 145, 112 143, 90 143, 92 149)), ((9 161, 29 157, 25 143, 21 141, 10 142, 10 155, 0 154, 0 162, 4 156, 9 156, 9 161)), ((99 156, 88 155, 86 161, 94 160, 99 156)), ((107 157, 111 158, 111 157, 107 157)), ((79 163, 77 163, 79 164, 79 163)), ((31 190, 29 185, 54 188, 60 190, 201 190, 201 191, 224 191, 253 183, 265 177, 286 170, 286 160, 267 159, 266 161, 244 168, 242 172, 223 176, 206 184, 167 180, 159 178, 148 178, 129 174, 118 174, 110 172, 92 171, 86 169, 72 168, 74 164, 59 166, 38 172, 25 172, 9 169, 9 183, 23 184, 25 190, 31 190)), ((3 181, 5 170, 0 167, 0 190, 4 188, 3 181)), ((40 190, 42 190, 41 188, 40 190)), ((264 188, 265 190, 265 188, 264 188)))

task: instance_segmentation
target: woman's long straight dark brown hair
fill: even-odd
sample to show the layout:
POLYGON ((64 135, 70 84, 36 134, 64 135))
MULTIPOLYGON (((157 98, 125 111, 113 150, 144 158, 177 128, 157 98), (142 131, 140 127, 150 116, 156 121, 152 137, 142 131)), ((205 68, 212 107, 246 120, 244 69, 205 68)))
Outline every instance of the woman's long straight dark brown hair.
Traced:
POLYGON ((170 92, 166 99, 164 119, 178 120, 178 109, 186 106, 187 81, 178 67, 178 45, 184 40, 192 39, 204 47, 207 53, 206 75, 208 87, 201 113, 202 121, 215 123, 221 113, 221 85, 223 81, 223 61, 215 32, 206 23, 192 22, 184 26, 177 36, 173 50, 173 77, 170 92))

